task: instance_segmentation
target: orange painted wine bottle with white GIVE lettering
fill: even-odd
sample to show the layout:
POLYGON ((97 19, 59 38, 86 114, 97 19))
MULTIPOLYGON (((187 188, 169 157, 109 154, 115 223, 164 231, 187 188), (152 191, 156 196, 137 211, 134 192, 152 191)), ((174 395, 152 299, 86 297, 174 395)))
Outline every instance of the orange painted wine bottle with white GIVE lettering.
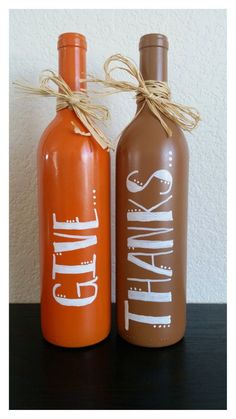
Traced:
MULTIPOLYGON (((85 89, 86 38, 58 40, 59 74, 85 89)), ((110 332, 110 155, 71 108, 57 112, 38 147, 41 327, 59 346, 95 344, 110 332)))

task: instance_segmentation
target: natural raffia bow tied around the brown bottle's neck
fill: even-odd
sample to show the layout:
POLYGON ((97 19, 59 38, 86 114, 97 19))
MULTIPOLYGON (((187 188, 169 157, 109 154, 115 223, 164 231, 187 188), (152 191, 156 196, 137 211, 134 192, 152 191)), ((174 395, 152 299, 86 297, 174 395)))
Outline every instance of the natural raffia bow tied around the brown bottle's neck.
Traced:
MULTIPOLYGON (((131 59, 121 54, 112 55, 105 61, 104 71, 105 80, 92 77, 87 81, 102 83, 104 86, 115 89, 117 92, 134 92, 137 102, 143 102, 135 118, 142 112, 144 106, 147 105, 158 118, 169 137, 172 136, 172 131, 164 121, 163 115, 174 121, 185 131, 192 131, 197 127, 200 121, 199 112, 195 108, 172 102, 167 83, 156 80, 144 80, 142 74, 131 59), (120 62, 123 65, 110 68, 113 62, 120 62), (113 78, 111 73, 115 70, 126 71, 138 84, 113 78)), ((107 92, 107 94, 111 94, 111 92, 107 92)))

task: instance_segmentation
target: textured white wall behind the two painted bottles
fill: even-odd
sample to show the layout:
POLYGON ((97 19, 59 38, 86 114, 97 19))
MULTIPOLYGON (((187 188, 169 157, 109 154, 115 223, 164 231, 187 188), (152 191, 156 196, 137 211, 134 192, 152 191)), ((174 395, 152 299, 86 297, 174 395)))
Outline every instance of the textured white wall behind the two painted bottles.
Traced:
MULTIPOLYGON (((54 116, 53 99, 16 98, 14 80, 36 84, 57 69, 57 37, 81 32, 88 72, 120 52, 139 61, 141 35, 169 38, 169 84, 177 102, 195 106, 202 122, 186 134, 190 148, 188 301, 226 300, 226 12, 224 10, 12 10, 10 12, 10 301, 39 301, 36 149, 54 116)), ((106 133, 116 138, 134 115, 132 95, 104 102, 106 133)), ((114 156, 112 157, 114 182, 114 156)), ((112 187, 114 255, 114 187, 112 187)), ((113 256, 113 284, 115 259, 113 256)), ((114 298, 114 287, 113 287, 114 298)))

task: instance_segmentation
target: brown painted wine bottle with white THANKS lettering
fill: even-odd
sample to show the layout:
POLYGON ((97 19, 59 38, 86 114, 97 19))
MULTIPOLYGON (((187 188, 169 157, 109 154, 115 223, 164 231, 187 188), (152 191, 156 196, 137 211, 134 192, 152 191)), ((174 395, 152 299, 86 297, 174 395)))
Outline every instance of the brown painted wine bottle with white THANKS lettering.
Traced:
MULTIPOLYGON (((166 36, 144 35, 139 49, 144 80, 167 81, 166 36)), ((186 324, 188 146, 163 119, 172 137, 145 104, 116 153, 117 325, 146 347, 178 342, 186 324)))

